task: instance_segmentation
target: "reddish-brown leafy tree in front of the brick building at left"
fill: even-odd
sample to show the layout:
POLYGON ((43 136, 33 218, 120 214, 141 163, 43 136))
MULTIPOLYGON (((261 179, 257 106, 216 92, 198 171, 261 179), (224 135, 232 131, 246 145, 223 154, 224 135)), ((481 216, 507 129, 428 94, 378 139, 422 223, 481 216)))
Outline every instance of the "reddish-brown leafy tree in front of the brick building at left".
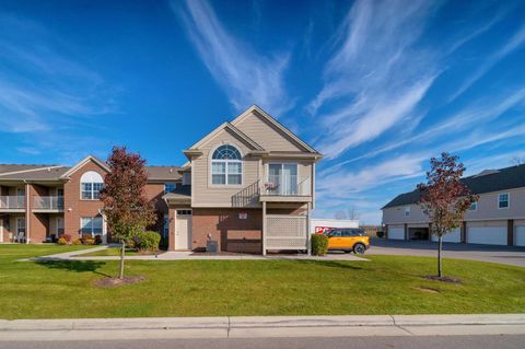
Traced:
POLYGON ((155 223, 153 202, 144 196, 148 173, 145 161, 139 154, 127 152, 126 147, 114 147, 107 158, 109 173, 104 178, 101 200, 104 202, 112 235, 121 244, 120 272, 124 278, 126 244, 139 230, 155 223))

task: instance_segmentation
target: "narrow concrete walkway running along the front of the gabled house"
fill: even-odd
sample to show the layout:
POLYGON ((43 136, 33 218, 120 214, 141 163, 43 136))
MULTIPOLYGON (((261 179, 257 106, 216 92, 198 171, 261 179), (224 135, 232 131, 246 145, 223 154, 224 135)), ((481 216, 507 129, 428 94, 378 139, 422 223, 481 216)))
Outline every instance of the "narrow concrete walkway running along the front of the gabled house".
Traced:
MULTIPOLYGON (((103 251, 108 246, 97 246, 94 248, 68 252, 42 257, 35 257, 31 259, 22 260, 119 260, 119 256, 85 256, 83 254, 103 251)), ((308 256, 304 254, 278 254, 278 255, 247 255, 247 254, 231 254, 231 255, 210 255, 199 254, 194 252, 165 252, 159 255, 143 255, 143 256, 126 256, 126 260, 354 260, 354 261, 368 261, 365 258, 357 257, 353 254, 328 254, 324 257, 308 256)))

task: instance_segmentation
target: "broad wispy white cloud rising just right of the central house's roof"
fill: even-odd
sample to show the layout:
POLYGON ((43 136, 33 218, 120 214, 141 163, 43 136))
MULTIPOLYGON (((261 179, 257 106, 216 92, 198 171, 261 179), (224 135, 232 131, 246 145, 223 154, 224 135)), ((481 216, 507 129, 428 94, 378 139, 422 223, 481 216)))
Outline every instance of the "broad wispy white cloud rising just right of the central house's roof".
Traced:
POLYGON ((416 44, 429 1, 357 1, 339 28, 340 47, 327 62, 324 86, 310 103, 329 139, 328 159, 376 139, 409 117, 440 70, 416 44), (334 105, 337 105, 334 106, 334 105), (323 107, 330 113, 319 113, 323 107))

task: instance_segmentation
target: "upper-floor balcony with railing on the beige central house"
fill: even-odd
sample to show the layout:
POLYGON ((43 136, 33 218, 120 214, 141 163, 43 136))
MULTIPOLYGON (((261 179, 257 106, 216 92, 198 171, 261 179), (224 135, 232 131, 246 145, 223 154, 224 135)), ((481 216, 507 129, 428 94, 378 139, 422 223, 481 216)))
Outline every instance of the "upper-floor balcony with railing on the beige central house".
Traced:
POLYGON ((312 201, 312 181, 296 175, 268 175, 260 188, 261 201, 312 201))

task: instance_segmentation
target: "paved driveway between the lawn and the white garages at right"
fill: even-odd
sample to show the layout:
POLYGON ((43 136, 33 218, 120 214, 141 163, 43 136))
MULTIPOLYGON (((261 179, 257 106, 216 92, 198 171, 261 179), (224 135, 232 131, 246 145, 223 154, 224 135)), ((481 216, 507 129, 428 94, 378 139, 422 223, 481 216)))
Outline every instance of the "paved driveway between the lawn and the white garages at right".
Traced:
MULTIPOLYGON (((438 243, 374 239, 366 255, 436 256, 438 243)), ((443 243, 443 257, 525 267, 525 247, 443 243)))

